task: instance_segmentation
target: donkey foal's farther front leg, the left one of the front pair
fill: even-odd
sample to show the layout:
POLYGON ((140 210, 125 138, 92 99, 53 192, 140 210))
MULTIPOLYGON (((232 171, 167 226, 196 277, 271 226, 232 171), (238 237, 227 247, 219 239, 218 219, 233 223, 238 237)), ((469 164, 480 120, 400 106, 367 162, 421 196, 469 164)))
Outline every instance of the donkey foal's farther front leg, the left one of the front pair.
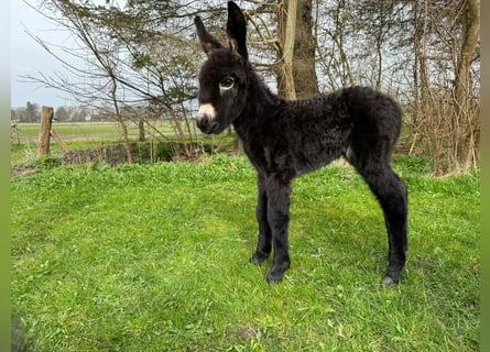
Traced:
POLYGON ((257 251, 250 258, 255 265, 262 264, 272 251, 272 233, 268 221, 268 194, 265 178, 259 174, 259 199, 257 201, 257 221, 259 222, 259 243, 257 251))

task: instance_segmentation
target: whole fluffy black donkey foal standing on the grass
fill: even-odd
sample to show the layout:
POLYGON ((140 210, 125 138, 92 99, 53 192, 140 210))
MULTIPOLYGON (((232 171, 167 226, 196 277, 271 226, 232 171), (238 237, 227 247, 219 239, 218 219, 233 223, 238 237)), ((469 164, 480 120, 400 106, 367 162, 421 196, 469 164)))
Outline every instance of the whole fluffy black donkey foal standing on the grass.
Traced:
POLYGON ((232 124, 259 176, 259 243, 251 262, 261 264, 274 249, 268 282, 282 280, 290 267, 288 220, 293 179, 344 156, 363 177, 383 210, 389 266, 384 284, 398 283, 407 250, 407 191, 390 157, 399 139, 399 105, 367 87, 349 87, 308 100, 272 94, 254 73, 247 53, 246 19, 228 3, 229 47, 195 19, 208 59, 199 73, 197 125, 220 133, 232 124))

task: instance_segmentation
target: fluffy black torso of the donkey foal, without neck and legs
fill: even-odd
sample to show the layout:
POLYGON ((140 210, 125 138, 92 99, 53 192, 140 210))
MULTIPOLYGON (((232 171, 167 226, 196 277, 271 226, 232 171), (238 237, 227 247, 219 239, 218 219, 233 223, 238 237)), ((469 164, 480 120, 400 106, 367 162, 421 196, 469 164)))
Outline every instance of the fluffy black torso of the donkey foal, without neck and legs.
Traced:
POLYGON ((356 167, 366 160, 388 163, 400 136, 402 111, 388 95, 356 86, 283 101, 264 123, 268 128, 261 125, 255 138, 276 157, 288 154, 296 174, 304 174, 340 156, 356 167))

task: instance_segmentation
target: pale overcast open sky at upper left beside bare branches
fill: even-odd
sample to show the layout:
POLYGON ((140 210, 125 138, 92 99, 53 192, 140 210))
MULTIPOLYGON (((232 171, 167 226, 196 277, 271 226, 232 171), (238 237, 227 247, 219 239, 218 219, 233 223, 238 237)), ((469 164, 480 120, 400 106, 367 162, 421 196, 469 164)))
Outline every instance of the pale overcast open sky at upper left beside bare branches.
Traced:
MULTIPOLYGON (((26 0, 35 4, 35 0, 26 0)), ((21 76, 39 77, 39 73, 53 76, 54 73, 67 75, 56 58, 48 54, 26 32, 32 32, 48 43, 73 46, 74 42, 67 32, 56 29, 42 14, 30 8, 24 0, 10 0, 10 81, 11 107, 25 107, 26 102, 40 106, 56 107, 73 105, 69 96, 63 91, 40 87, 40 84, 22 82, 21 76)))

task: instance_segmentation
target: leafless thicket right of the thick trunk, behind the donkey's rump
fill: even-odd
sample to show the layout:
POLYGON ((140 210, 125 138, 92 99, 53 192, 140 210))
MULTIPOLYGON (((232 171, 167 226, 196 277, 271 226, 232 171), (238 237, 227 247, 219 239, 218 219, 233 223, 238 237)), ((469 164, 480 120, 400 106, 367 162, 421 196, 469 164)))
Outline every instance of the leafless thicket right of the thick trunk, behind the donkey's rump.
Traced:
POLYGON ((318 75, 327 89, 396 95, 410 152, 443 174, 479 160, 479 0, 316 1, 318 75))

